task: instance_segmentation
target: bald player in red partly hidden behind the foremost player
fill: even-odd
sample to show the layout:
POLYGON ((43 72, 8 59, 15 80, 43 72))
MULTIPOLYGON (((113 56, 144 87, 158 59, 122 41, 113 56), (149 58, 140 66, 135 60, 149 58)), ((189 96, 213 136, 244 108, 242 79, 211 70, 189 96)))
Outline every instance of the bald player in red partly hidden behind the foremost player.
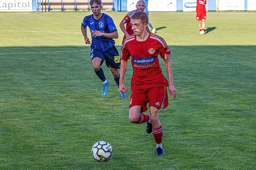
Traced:
MULTIPOLYGON (((137 11, 144 11, 146 8, 146 3, 142 0, 138 1, 136 4, 136 10, 130 11, 122 20, 122 22, 119 24, 121 30, 124 32, 124 38, 122 41, 122 45, 124 44, 124 39, 126 37, 129 37, 130 35, 134 34, 132 31, 132 26, 130 24, 132 15, 137 11), (124 27, 124 24, 126 24, 126 28, 124 27)), ((149 31, 149 28, 147 27, 147 31, 149 31)))

